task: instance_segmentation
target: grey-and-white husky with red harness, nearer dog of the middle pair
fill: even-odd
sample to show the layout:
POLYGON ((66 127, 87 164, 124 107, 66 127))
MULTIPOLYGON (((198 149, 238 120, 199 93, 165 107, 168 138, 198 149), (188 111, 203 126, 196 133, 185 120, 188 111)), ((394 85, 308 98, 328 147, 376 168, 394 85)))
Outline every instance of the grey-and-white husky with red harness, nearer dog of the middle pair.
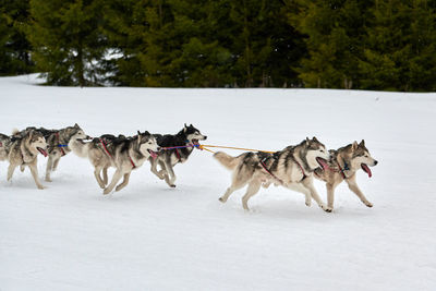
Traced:
POLYGON ((80 157, 88 158, 94 166, 94 175, 104 194, 109 194, 122 177, 124 180, 116 187, 120 191, 129 183, 132 170, 140 168, 149 157, 157 157, 160 147, 156 138, 149 132, 137 132, 133 137, 120 135, 118 137, 106 134, 99 138, 94 138, 90 143, 84 143, 80 138, 72 138, 70 148, 80 157), (112 181, 106 187, 107 169, 117 168, 112 181), (106 178, 101 179, 100 172, 104 171, 106 178))

